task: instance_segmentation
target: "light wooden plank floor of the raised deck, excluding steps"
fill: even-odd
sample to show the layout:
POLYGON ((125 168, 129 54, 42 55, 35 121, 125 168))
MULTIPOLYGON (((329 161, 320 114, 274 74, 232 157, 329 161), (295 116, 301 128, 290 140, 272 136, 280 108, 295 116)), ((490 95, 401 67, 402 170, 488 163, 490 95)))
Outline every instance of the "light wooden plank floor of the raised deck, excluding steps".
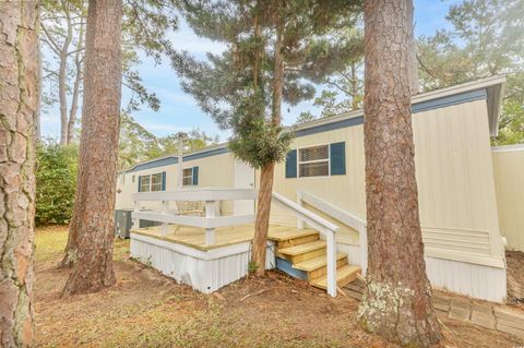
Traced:
MULTIPOLYGON (((300 230, 300 233, 308 236, 311 231, 312 230, 305 229, 300 230)), ((213 245, 205 245, 205 229, 199 227, 169 225, 169 230, 166 236, 162 236, 160 226, 133 229, 131 232, 207 251, 251 241, 254 235, 254 224, 216 228, 215 243, 213 245)), ((270 225, 267 238, 278 241, 291 235, 297 235, 296 227, 270 225)))

